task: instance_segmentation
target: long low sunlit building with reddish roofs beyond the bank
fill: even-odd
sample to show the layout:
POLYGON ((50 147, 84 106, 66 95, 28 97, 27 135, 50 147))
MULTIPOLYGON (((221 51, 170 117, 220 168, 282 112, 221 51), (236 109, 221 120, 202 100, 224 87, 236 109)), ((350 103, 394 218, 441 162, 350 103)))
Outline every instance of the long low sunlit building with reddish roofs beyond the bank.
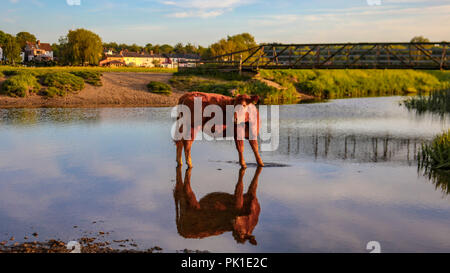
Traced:
POLYGON ((163 55, 150 54, 145 52, 121 51, 119 54, 105 54, 104 59, 100 61, 100 66, 136 66, 136 67, 156 67, 164 66, 168 59, 163 55))

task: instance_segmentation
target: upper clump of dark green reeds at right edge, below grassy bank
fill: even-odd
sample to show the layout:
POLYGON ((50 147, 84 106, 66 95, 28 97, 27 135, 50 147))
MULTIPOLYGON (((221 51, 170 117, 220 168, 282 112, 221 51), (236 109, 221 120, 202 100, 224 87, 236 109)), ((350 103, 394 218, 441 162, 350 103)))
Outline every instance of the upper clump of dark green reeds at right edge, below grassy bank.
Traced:
POLYGON ((432 112, 450 113, 450 89, 435 91, 429 96, 417 96, 404 101, 408 109, 415 109, 419 114, 432 112))

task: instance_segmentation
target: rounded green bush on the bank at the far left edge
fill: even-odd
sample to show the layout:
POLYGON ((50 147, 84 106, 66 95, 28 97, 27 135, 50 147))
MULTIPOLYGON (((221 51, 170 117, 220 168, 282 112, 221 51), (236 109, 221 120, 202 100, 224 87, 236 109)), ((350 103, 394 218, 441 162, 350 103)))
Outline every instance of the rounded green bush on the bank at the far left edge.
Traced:
POLYGON ((29 93, 36 93, 40 85, 36 77, 30 73, 20 73, 8 78, 2 85, 2 93, 12 97, 26 97, 29 93))

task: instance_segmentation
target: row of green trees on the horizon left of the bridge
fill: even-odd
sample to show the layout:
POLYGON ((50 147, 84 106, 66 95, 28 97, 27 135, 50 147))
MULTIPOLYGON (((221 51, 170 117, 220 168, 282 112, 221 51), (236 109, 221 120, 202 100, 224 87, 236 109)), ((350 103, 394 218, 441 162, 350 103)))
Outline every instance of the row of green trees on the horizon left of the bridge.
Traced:
MULTIPOLYGON (((26 42, 36 42, 36 36, 28 32, 20 32, 15 36, 0 31, 0 47, 3 49, 3 60, 10 64, 21 61, 20 53, 26 46, 26 42)), ((137 44, 127 45, 115 42, 103 43, 99 35, 86 29, 70 30, 62 36, 58 43, 52 44, 53 54, 60 65, 95 65, 102 58, 103 49, 113 49, 116 52, 128 50, 131 52, 147 52, 154 54, 197 54, 201 57, 222 55, 237 50, 256 46, 255 38, 242 33, 228 36, 209 47, 196 46, 191 43, 169 44, 137 44)))

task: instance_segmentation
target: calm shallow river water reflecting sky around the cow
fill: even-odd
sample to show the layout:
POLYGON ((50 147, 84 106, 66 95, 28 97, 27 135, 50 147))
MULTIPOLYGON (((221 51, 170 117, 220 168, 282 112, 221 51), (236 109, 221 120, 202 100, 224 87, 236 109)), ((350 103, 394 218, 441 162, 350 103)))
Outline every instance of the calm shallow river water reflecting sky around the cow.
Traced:
POLYGON ((450 122, 401 100, 280 106, 279 149, 262 157, 285 166, 245 173, 219 141, 196 142, 192 171, 177 170, 169 108, 0 109, 0 241, 109 232, 167 252, 448 252, 450 197, 415 154, 450 122), (230 210, 235 191, 245 211, 230 210))

